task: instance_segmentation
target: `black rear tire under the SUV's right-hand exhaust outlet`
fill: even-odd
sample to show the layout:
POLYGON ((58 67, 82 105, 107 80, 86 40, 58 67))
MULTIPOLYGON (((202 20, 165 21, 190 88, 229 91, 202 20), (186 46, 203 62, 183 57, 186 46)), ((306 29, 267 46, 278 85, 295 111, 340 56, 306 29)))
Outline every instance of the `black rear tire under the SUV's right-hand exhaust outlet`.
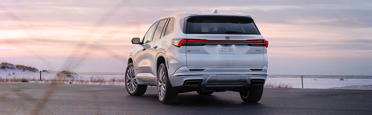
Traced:
POLYGON ((250 88, 247 91, 240 92, 240 98, 244 102, 258 102, 261 100, 263 93, 263 85, 259 85, 255 88, 250 88))

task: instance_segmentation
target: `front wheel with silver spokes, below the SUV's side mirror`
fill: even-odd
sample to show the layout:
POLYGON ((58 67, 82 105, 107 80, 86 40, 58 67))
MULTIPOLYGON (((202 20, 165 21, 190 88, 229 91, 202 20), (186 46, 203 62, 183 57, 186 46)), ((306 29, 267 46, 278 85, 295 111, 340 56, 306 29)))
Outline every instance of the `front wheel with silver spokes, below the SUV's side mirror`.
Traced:
POLYGON ((129 95, 140 96, 145 94, 147 85, 137 84, 133 63, 129 63, 125 71, 125 88, 129 95))

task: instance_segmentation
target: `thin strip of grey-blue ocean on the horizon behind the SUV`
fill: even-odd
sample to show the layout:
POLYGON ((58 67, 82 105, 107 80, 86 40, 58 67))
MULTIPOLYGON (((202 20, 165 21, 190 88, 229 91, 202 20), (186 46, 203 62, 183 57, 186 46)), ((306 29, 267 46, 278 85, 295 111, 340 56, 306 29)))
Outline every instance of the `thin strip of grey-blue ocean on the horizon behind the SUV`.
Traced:
MULTIPOLYGON (((124 72, 75 72, 78 75, 124 76, 124 72)), ((333 78, 333 79, 372 79, 368 75, 267 75, 269 78, 333 78)))

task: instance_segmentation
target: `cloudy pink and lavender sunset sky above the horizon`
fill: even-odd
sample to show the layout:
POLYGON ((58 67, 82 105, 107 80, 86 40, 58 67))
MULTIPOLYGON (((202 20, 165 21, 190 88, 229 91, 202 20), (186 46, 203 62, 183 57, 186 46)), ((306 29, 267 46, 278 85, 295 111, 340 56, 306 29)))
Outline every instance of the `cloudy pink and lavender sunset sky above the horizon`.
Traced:
POLYGON ((175 12, 250 14, 268 74, 372 75, 368 0, 1 0, 0 61, 39 70, 125 72, 134 37, 175 12))

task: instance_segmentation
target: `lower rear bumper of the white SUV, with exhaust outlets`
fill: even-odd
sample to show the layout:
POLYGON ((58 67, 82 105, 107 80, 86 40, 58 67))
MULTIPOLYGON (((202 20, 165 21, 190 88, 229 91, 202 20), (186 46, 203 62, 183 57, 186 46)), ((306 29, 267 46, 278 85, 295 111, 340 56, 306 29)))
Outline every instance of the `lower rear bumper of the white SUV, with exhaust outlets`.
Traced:
POLYGON ((173 87, 182 85, 199 85, 200 87, 243 87, 251 85, 252 83, 263 85, 266 78, 266 66, 262 68, 187 68, 183 66, 173 75, 169 75, 169 80, 173 87), (189 69, 200 69, 203 71, 189 71, 189 69), (262 69, 262 71, 252 71, 251 69, 262 69))

